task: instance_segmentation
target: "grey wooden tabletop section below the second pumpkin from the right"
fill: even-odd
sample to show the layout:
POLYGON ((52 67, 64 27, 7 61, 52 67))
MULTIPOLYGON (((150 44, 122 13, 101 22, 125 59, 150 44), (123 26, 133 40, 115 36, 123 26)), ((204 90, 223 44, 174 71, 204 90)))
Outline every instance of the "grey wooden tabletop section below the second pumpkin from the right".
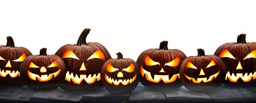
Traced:
POLYGON ((184 86, 177 90, 164 91, 167 103, 212 103, 212 98, 204 92, 195 92, 184 86))

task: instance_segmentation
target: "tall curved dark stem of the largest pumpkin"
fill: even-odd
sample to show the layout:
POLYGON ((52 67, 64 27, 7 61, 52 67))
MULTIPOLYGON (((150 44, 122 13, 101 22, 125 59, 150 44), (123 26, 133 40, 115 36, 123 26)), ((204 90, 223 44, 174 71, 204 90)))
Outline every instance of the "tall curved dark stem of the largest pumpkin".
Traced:
POLYGON ((87 42, 85 41, 85 39, 86 39, 87 35, 89 34, 90 30, 91 29, 86 28, 82 31, 81 35, 79 36, 79 38, 77 40, 77 43, 76 43, 77 46, 87 45, 87 42))

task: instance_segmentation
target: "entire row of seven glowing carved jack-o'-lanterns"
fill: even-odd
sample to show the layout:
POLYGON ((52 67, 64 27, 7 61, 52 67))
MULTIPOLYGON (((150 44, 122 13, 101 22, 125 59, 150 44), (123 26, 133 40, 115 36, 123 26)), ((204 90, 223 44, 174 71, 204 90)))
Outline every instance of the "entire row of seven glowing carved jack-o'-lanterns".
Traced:
POLYGON ((148 88, 177 89, 184 85, 200 91, 227 85, 252 85, 256 79, 256 42, 247 43, 246 34, 237 42, 221 45, 214 55, 197 49, 197 56, 186 57, 178 49, 160 48, 141 53, 137 61, 111 58, 98 42, 86 42, 91 29, 85 29, 76 44, 63 45, 55 55, 32 55, 27 48, 15 47, 7 37, 0 45, 0 85, 34 89, 62 88, 66 91, 95 90, 103 86, 112 93, 133 91, 139 82, 148 88))

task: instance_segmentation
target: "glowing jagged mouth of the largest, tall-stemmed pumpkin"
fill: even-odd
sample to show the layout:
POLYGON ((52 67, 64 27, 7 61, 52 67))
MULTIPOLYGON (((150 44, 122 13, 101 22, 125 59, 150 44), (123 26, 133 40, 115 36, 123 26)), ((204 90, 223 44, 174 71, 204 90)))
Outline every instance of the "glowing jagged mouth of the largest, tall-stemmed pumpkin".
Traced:
POLYGON ((76 76, 74 77, 72 72, 70 73, 69 71, 67 71, 65 80, 68 82, 71 82, 70 79, 72 80, 73 83, 77 85, 80 85, 82 80, 85 80, 85 82, 87 82, 88 84, 92 84, 96 81, 96 79, 97 79, 97 82, 101 80, 101 74, 98 73, 97 75, 94 74, 93 76, 92 74, 89 74, 89 75, 80 74, 80 77, 78 77, 78 75, 76 74, 76 76))

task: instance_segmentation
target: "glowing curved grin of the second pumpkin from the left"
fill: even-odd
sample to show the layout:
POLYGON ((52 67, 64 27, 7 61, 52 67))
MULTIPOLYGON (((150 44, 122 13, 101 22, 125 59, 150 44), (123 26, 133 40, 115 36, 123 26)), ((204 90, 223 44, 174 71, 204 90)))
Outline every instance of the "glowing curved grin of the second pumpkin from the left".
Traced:
POLYGON ((37 75, 37 74, 34 74, 34 73, 31 73, 29 70, 28 70, 28 77, 30 78, 30 79, 32 79, 32 80, 34 80, 34 81, 36 81, 36 79, 38 79, 38 81, 40 81, 40 82, 46 82, 46 81, 49 81, 49 80, 51 80, 52 79, 52 77, 54 76, 54 78, 56 77, 56 76, 58 76, 59 75, 59 73, 60 73, 60 69, 57 71, 57 72, 55 72, 55 73, 51 73, 51 74, 45 74, 45 75, 41 75, 41 77, 39 76, 39 75, 37 75))

